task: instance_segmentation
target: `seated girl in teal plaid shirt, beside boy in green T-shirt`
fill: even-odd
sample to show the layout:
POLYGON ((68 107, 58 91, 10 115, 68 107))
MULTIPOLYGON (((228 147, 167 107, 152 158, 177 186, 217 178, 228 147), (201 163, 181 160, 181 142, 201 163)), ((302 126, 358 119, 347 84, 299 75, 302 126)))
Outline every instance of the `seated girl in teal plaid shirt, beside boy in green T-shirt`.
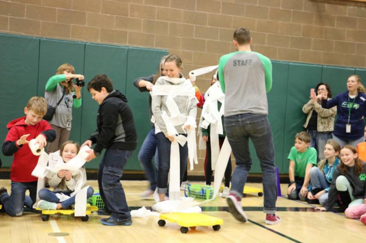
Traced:
POLYGON ((340 163, 339 153, 341 146, 336 141, 329 139, 324 147, 324 157, 318 167, 310 170, 311 191, 307 194, 307 203, 325 205, 328 192, 332 183, 333 173, 340 163))

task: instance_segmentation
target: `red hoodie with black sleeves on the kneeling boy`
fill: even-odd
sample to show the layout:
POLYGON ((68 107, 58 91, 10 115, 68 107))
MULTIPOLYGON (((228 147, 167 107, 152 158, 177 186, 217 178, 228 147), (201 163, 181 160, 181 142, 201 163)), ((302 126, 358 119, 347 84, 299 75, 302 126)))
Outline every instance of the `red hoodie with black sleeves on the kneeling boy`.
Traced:
POLYGON ((33 182, 38 180, 38 178, 31 175, 31 173, 37 165, 39 156, 34 155, 30 151, 27 143, 17 146, 16 140, 20 139, 20 137, 25 134, 30 134, 27 137, 28 141, 36 138, 41 132, 47 140, 52 140, 52 138, 55 140, 56 135, 47 121, 41 120, 36 125, 32 126, 26 124, 25 119, 26 117, 20 117, 10 121, 6 126, 9 129, 9 132, 3 145, 3 153, 8 156, 14 154, 10 172, 10 179, 14 182, 33 182), (47 130, 51 130, 52 132, 45 132, 47 130), (16 146, 16 148, 14 146, 16 146))

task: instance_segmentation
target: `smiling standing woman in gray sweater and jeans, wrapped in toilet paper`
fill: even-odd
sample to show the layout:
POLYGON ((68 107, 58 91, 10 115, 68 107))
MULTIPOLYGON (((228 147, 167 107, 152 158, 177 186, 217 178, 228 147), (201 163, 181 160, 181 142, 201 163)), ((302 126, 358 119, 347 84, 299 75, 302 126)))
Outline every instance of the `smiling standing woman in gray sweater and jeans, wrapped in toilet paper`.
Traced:
POLYGON ((182 61, 177 55, 169 55, 164 63, 167 76, 160 77, 153 86, 152 112, 158 149, 157 192, 160 201, 167 192, 169 198, 179 199, 180 183, 187 166, 189 153, 191 167, 197 163, 195 127, 197 99, 190 80, 180 73, 182 61))

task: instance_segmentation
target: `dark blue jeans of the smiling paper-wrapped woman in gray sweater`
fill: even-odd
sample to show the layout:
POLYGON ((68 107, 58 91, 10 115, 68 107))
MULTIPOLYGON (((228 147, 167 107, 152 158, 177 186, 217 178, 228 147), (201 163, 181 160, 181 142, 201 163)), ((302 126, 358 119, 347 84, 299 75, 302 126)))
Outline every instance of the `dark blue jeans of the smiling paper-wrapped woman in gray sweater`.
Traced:
MULTIPOLYGON (((183 134, 186 136, 185 134, 183 134)), ((168 173, 170 169, 170 146, 171 142, 165 137, 163 132, 156 134, 156 142, 158 147, 159 167, 158 167, 158 193, 166 193, 168 191, 168 173)), ((188 146, 179 144, 180 157, 180 184, 182 184, 184 171, 187 168, 188 146)))

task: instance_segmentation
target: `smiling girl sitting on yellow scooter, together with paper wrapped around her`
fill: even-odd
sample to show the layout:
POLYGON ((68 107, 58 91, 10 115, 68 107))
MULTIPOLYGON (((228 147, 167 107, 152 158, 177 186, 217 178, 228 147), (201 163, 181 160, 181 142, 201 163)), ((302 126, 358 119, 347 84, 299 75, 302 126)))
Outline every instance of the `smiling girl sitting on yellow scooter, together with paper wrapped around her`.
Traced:
MULTIPOLYGON (((86 171, 82 165, 85 163, 85 159, 78 158, 87 157, 87 153, 80 152, 77 143, 67 141, 62 144, 59 151, 48 155, 48 167, 46 167, 44 174, 49 178, 48 183, 52 186, 53 191, 39 188, 37 193, 37 201, 40 199, 37 203, 38 208, 42 210, 67 209, 75 204, 75 198, 77 200, 78 196, 82 197, 82 201, 86 201, 86 198, 93 195, 94 190, 91 186, 84 187, 86 171)), ((38 183, 40 184, 40 181, 38 183)), ((85 212, 85 207, 81 211, 85 212)), ((75 216, 78 216, 76 212, 75 216)))

